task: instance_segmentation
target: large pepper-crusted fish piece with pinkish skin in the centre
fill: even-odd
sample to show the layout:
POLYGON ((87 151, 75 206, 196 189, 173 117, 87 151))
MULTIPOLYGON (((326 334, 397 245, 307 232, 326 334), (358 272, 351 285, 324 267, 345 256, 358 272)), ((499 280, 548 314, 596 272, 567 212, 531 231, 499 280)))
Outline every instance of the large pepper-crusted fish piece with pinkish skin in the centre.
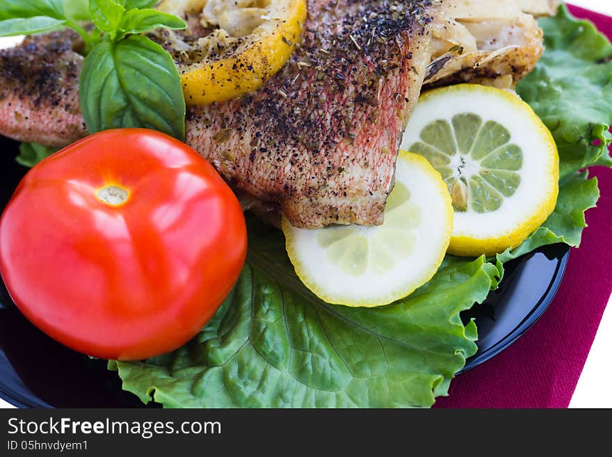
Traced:
POLYGON ((191 108, 187 142, 293 225, 383 223, 432 3, 311 1, 291 61, 255 94, 191 108))

